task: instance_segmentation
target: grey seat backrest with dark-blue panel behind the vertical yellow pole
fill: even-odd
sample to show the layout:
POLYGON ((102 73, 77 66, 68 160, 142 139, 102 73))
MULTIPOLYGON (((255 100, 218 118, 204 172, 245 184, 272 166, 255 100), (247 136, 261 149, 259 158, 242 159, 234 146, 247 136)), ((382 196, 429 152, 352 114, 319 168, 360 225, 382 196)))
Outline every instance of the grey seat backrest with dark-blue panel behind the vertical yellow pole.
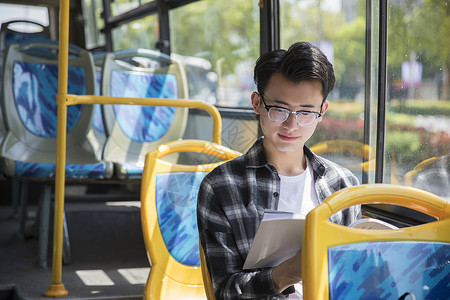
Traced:
MULTIPOLYGON (((75 46, 69 47, 69 53, 68 92, 94 94, 91 54, 75 46)), ((12 161, 54 164, 58 44, 51 41, 11 44, 4 62, 2 107, 7 135, 0 149, 1 156, 12 161)), ((93 146, 97 141, 89 134, 92 117, 92 105, 68 107, 67 164, 89 164, 100 160, 93 146)))

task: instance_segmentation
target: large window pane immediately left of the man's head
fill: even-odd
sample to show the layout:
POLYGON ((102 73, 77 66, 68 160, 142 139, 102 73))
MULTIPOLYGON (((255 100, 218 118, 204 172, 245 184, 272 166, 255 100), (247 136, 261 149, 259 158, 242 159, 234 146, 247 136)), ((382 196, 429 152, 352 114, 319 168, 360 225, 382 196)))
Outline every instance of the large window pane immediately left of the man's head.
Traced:
POLYGON ((259 56, 258 1, 194 2, 171 10, 170 22, 172 53, 184 62, 189 97, 250 107, 259 56))

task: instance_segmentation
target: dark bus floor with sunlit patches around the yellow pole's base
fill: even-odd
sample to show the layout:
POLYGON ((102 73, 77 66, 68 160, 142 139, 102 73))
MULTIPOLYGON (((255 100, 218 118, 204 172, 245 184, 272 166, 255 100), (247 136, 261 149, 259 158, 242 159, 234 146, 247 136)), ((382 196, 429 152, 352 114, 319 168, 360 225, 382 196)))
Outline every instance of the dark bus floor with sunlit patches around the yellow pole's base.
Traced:
MULTIPOLYGON (((139 196, 134 201, 126 198, 66 200, 71 261, 62 266, 62 283, 69 292, 65 299, 142 299, 150 264, 139 196)), ((26 237, 22 237, 11 204, 0 205, 0 300, 48 299, 43 294, 52 280, 53 225, 48 267, 42 269, 37 265, 37 208, 29 207, 26 237)))

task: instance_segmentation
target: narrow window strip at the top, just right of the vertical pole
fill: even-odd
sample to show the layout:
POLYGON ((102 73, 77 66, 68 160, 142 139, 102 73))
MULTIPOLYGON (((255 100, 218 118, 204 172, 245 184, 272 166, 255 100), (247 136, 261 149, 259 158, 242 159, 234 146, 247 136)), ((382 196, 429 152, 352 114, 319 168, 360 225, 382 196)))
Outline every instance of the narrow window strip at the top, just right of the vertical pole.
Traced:
POLYGON ((102 0, 84 0, 83 14, 85 22, 86 47, 88 49, 105 44, 105 35, 100 32, 105 27, 101 17, 102 0))

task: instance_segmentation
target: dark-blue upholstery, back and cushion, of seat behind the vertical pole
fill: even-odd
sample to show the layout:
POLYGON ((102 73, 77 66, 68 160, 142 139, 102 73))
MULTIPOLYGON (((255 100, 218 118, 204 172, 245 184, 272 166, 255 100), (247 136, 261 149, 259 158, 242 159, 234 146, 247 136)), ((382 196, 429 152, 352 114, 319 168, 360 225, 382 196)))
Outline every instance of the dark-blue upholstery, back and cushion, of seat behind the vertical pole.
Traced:
MULTIPOLYGON (((69 67, 68 93, 83 95, 84 69, 69 67)), ((58 66, 30 62, 15 62, 13 72, 16 108, 24 126, 33 134, 56 138, 58 66)), ((67 108, 67 132, 77 123, 81 105, 67 108)), ((55 164, 15 161, 15 176, 53 178, 55 164)), ((66 178, 104 178, 106 164, 66 165, 66 178)))

